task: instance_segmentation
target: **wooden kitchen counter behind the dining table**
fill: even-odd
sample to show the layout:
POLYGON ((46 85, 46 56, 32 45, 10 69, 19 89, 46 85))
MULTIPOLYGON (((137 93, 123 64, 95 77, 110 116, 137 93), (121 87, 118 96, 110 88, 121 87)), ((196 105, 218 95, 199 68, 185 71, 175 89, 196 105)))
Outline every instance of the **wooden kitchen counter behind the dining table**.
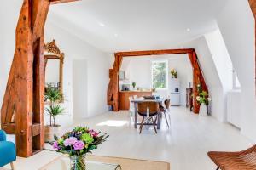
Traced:
POLYGON ((143 96, 151 96, 152 91, 139 91, 139 90, 132 90, 132 91, 119 91, 119 109, 120 110, 129 110, 130 108, 130 101, 129 97, 137 95, 137 97, 143 96))

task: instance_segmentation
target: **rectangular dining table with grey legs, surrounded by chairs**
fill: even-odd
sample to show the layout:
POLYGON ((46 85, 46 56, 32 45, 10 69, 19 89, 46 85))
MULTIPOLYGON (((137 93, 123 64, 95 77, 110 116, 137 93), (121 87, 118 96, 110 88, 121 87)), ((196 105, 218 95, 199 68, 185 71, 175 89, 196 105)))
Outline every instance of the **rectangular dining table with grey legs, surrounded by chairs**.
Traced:
MULTIPOLYGON (((162 104, 163 99, 144 99, 144 98, 137 98, 137 99, 132 99, 131 103, 134 104, 134 127, 137 128, 138 125, 141 124, 141 122, 137 122, 137 104, 138 103, 143 103, 143 102, 156 102, 159 103, 159 105, 162 104)), ((147 125, 147 123, 145 123, 147 125)), ((157 115, 157 129, 160 129, 160 114, 157 115)))

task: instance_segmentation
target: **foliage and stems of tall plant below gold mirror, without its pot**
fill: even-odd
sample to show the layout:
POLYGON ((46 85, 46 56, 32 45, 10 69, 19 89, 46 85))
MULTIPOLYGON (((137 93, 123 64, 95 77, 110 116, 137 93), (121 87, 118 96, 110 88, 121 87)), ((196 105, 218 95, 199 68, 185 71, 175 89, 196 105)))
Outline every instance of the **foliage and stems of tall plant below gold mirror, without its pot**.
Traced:
POLYGON ((49 113, 49 126, 56 126, 55 120, 56 116, 61 115, 64 111, 61 105, 57 103, 61 101, 62 94, 59 89, 48 86, 44 94, 45 100, 49 101, 49 108, 46 111, 49 113))

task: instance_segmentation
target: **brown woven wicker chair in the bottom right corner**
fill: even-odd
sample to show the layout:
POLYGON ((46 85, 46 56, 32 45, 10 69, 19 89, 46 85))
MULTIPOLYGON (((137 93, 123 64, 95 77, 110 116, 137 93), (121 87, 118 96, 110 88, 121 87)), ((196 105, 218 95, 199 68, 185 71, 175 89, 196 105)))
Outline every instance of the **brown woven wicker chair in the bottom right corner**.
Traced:
POLYGON ((221 170, 256 170, 256 145, 239 152, 210 151, 208 156, 221 170))

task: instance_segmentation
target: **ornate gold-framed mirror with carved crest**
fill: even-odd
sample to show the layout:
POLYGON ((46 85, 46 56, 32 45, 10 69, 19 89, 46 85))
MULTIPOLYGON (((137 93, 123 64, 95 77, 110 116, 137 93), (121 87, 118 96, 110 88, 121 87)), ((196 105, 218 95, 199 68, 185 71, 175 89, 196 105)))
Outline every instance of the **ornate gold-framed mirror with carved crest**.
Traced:
POLYGON ((56 88, 60 90, 61 94, 63 94, 64 53, 61 53, 61 50, 56 45, 55 40, 46 43, 44 48, 45 88, 56 88))

